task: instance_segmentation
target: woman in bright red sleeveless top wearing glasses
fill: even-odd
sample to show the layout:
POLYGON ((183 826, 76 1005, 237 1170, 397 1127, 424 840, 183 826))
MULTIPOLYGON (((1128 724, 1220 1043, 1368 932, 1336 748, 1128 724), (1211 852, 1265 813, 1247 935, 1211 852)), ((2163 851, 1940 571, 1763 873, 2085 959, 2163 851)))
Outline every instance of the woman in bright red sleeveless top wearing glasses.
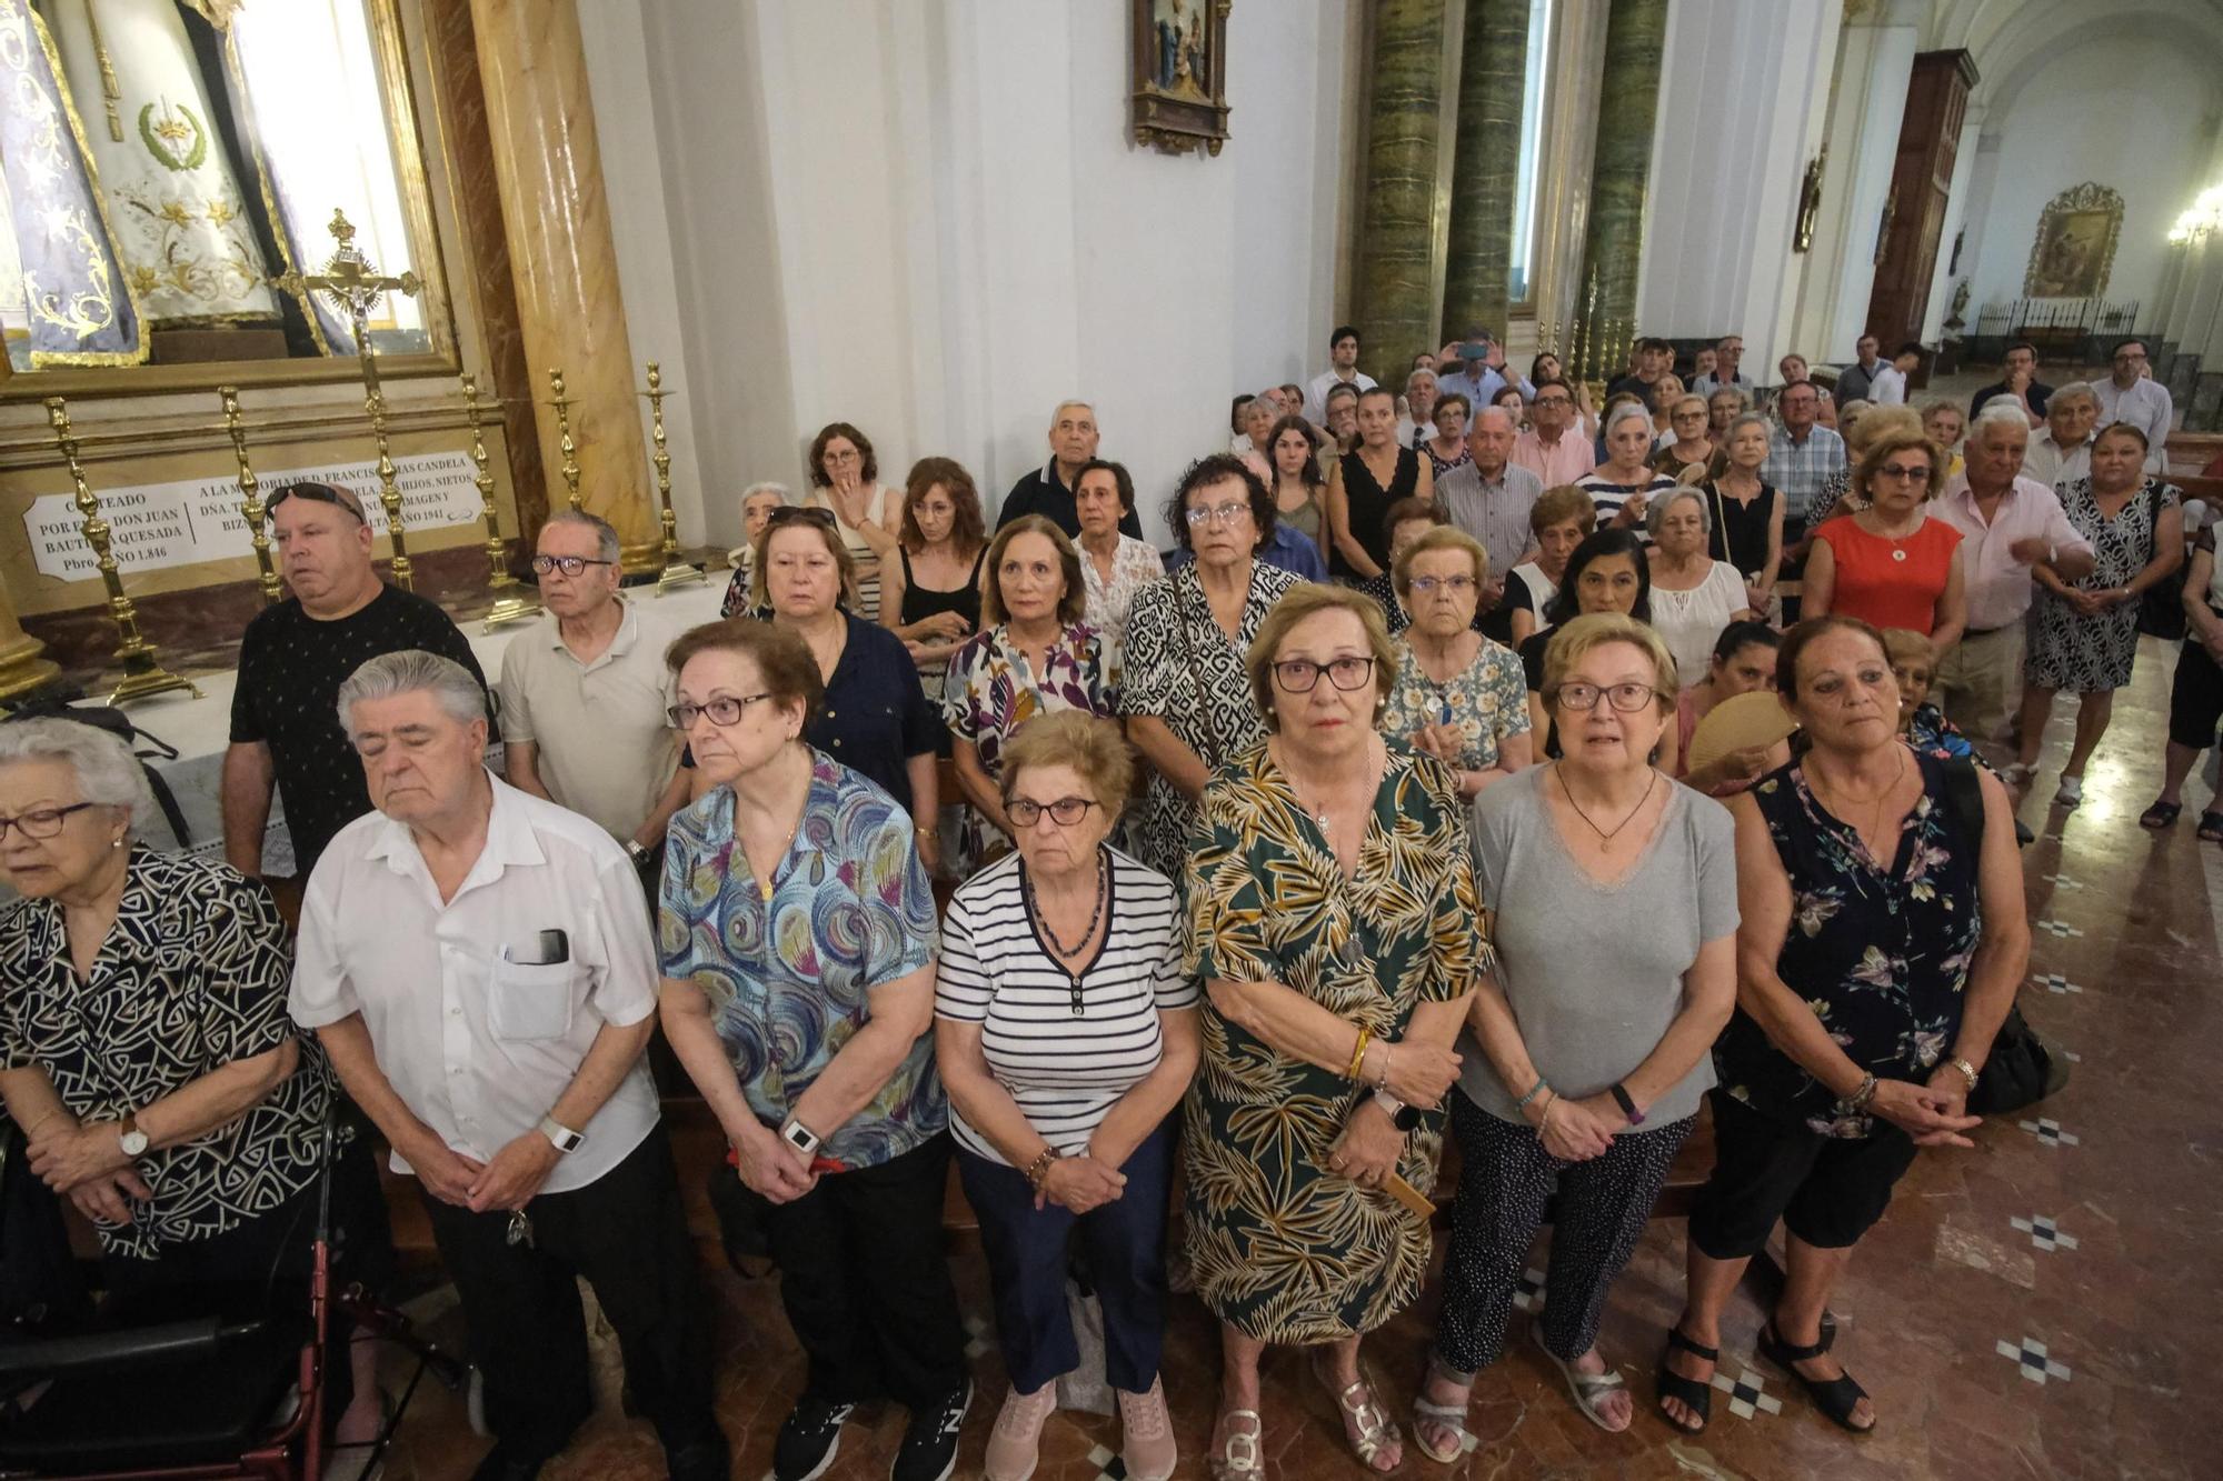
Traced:
POLYGON ((1854 469, 1854 494, 1867 507, 1814 531, 1801 614, 1905 627, 1941 654, 1958 643, 1967 627, 1961 531, 1927 514, 1943 485, 1943 458, 1921 431, 1874 438, 1854 469))

